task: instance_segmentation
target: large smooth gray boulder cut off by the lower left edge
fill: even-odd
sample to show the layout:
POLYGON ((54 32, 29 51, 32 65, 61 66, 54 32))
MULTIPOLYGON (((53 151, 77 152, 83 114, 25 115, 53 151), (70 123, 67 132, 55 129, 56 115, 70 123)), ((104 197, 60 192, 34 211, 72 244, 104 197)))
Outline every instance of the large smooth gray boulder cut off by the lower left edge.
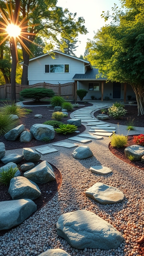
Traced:
POLYGON ((36 210, 36 204, 30 199, 0 202, 0 230, 19 225, 36 210))

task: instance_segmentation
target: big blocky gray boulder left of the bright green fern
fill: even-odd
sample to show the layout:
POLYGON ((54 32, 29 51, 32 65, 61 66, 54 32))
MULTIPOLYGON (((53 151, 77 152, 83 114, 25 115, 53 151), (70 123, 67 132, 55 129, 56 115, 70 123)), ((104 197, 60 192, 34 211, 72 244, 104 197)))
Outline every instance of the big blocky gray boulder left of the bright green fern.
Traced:
POLYGON ((55 137, 55 130, 52 125, 34 124, 30 128, 30 132, 38 141, 41 141, 44 137, 49 137, 50 140, 55 137))

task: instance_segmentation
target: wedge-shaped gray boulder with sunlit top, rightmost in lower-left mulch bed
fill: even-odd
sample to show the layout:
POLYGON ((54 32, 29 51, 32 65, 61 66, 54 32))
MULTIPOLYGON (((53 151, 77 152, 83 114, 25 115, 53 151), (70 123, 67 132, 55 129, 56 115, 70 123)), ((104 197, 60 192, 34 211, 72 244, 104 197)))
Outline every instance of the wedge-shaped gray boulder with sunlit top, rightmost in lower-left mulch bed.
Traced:
POLYGON ((53 168, 47 161, 43 161, 33 169, 25 172, 24 177, 38 184, 46 183, 56 179, 53 168))

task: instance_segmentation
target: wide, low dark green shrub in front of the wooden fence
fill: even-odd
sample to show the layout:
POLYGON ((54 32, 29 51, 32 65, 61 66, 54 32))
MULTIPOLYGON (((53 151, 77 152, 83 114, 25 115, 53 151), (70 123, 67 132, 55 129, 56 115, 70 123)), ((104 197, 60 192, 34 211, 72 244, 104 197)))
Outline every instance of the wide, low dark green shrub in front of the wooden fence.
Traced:
POLYGON ((33 99, 35 101, 40 101, 45 97, 51 98, 55 95, 55 92, 52 89, 45 88, 27 88, 22 90, 20 93, 20 97, 24 99, 33 99))

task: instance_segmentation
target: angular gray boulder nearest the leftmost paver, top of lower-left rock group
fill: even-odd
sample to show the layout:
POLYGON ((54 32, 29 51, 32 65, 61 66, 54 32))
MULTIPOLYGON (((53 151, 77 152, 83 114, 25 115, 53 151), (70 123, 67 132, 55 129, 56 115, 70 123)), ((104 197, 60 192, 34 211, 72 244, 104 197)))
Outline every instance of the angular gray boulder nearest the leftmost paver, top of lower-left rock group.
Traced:
POLYGON ((23 148, 23 155, 26 161, 36 162, 39 161, 41 155, 35 150, 25 147, 23 148))

